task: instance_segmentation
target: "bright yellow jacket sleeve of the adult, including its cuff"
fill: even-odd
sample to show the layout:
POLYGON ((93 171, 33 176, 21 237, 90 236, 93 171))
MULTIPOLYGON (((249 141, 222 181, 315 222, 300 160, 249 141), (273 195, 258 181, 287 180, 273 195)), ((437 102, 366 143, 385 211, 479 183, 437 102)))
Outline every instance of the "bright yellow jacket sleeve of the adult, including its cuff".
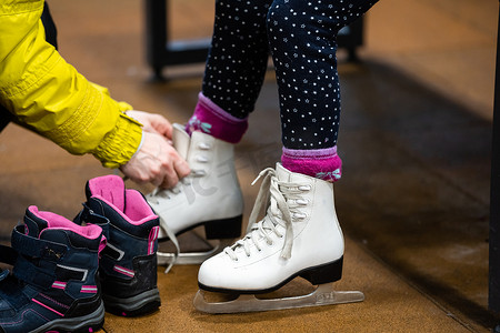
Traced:
POLYGON ((0 103, 72 154, 118 168, 136 153, 140 123, 106 88, 89 82, 46 42, 43 0, 0 0, 0 103))

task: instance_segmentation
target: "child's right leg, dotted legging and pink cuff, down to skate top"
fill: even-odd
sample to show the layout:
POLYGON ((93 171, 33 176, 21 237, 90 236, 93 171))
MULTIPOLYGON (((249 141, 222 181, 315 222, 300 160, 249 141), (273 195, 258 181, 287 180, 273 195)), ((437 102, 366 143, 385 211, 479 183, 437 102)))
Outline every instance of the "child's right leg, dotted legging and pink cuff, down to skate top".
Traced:
POLYGON ((279 85, 283 167, 334 181, 340 88, 337 33, 377 0, 274 0, 269 43, 279 85))

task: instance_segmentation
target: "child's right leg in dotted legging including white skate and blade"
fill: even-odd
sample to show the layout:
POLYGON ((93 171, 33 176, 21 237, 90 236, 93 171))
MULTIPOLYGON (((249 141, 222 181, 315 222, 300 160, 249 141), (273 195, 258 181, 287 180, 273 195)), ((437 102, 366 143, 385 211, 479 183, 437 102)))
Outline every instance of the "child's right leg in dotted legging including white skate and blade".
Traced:
POLYGON ((282 165, 260 173, 261 189, 247 235, 203 262, 198 273, 201 290, 229 294, 269 293, 296 276, 319 287, 313 296, 269 300, 244 295, 227 303, 209 303, 200 292, 194 299, 198 310, 231 313, 363 300, 361 292, 331 290, 330 284, 342 275, 344 243, 333 184, 323 180, 340 176, 341 164, 336 150, 340 113, 337 32, 373 1, 272 2, 268 37, 279 84, 282 165))

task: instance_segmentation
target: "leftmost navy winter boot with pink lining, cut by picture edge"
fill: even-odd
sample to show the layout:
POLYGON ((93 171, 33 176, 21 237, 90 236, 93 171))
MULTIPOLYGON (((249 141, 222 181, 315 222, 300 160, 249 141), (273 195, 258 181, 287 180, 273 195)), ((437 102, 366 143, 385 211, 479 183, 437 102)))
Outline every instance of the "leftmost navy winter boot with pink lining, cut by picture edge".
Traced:
POLYGON ((94 332, 104 322, 99 281, 102 229, 80 226, 37 206, 0 259, 0 332, 94 332))

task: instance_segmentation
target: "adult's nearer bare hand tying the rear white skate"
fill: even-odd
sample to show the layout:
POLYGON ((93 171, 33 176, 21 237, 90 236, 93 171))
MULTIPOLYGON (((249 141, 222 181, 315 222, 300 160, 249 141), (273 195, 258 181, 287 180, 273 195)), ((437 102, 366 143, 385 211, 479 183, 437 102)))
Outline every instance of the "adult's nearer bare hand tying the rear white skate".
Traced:
POLYGON ((127 164, 120 167, 124 175, 138 183, 151 182, 156 186, 168 189, 191 172, 188 162, 164 137, 147 131, 142 135, 140 150, 127 164))

